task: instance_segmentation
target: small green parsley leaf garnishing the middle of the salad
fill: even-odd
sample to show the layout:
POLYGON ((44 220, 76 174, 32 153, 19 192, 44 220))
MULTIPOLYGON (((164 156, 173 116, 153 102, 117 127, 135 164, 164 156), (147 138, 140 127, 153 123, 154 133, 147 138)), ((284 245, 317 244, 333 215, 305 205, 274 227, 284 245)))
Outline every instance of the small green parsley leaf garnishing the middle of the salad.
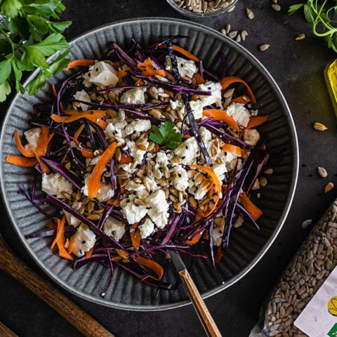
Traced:
POLYGON ((149 138, 154 143, 175 149, 183 136, 180 132, 176 131, 172 121, 164 121, 164 123, 160 124, 159 128, 155 125, 152 127, 149 138))

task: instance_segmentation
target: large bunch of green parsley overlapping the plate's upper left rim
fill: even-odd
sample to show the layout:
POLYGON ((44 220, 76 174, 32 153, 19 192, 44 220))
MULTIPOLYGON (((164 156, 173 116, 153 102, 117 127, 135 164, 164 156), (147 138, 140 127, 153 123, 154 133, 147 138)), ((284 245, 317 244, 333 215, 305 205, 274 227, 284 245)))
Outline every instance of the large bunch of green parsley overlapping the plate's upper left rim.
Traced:
POLYGON ((62 32, 72 22, 58 21, 62 11, 62 0, 0 0, 0 102, 12 88, 37 94, 46 86, 47 77, 67 66, 70 48, 62 32), (63 52, 47 62, 58 51, 63 52), (37 76, 24 88, 22 74, 35 69, 39 69, 37 76))

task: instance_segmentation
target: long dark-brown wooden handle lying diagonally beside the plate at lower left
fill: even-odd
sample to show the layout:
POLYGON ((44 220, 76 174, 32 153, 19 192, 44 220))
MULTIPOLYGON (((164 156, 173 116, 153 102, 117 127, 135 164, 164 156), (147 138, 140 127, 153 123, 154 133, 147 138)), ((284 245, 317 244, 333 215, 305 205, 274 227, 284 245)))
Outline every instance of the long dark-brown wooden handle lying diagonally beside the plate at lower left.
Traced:
POLYGON ((0 236, 0 268, 18 279, 87 337, 114 337, 72 300, 15 256, 0 236))

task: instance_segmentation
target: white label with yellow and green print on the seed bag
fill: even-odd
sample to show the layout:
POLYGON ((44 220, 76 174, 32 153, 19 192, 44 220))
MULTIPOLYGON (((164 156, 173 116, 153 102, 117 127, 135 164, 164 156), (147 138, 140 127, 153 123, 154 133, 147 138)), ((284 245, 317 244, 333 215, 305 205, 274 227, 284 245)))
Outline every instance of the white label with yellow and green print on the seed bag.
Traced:
POLYGON ((310 337, 337 337, 337 267, 294 324, 310 337))

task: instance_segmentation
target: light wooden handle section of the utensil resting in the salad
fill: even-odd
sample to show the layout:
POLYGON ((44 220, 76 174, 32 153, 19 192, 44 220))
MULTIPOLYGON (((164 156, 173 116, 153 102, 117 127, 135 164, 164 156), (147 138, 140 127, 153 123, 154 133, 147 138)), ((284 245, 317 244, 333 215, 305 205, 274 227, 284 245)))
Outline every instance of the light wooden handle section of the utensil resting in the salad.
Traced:
POLYGON ((194 305, 195 311, 197 311, 199 319, 202 325, 204 326, 204 329, 208 334, 208 336, 221 337, 221 333, 218 330, 218 326, 216 326, 216 323, 214 322, 211 314, 209 313, 209 310, 207 309, 204 300, 201 298, 197 286, 195 286, 190 273, 187 272, 186 269, 184 269, 179 272, 179 275, 181 280, 183 281, 183 284, 185 284, 187 292, 190 295, 190 298, 194 305))

